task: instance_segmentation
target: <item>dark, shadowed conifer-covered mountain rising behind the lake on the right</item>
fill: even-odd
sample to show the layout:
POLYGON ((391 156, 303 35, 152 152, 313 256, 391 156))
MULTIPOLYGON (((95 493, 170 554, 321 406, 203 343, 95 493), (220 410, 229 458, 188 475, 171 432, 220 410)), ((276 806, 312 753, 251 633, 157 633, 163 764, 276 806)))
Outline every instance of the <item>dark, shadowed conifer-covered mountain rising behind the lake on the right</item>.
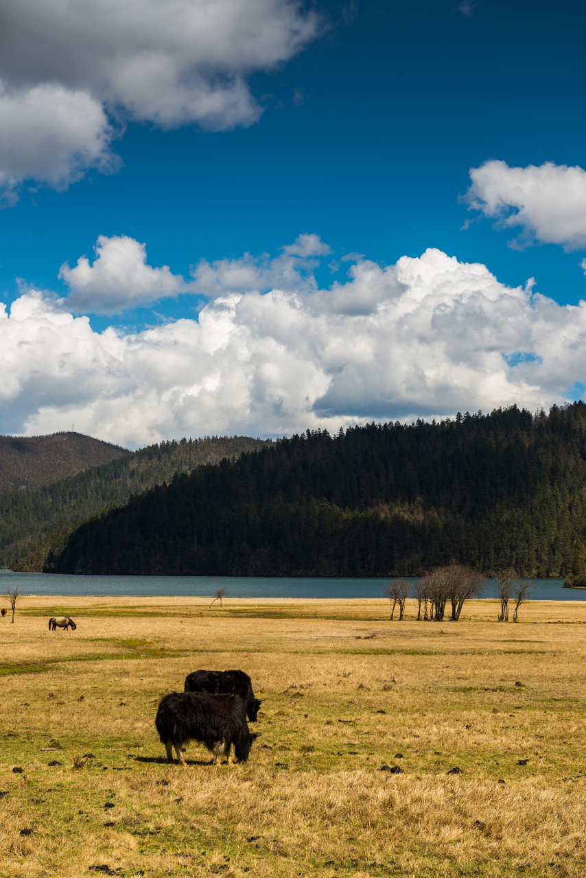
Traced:
POLYGON ((586 406, 279 440, 83 524, 54 572, 387 576, 452 560, 571 572, 586 541, 586 406))

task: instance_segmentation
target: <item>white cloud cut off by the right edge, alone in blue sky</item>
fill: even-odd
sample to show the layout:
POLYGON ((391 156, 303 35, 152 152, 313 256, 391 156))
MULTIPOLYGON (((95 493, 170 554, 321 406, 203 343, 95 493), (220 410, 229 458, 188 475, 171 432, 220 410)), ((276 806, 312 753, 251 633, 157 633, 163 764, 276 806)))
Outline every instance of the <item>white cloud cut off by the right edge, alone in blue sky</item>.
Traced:
POLYGON ((545 162, 539 168, 510 168, 485 162, 471 168, 472 185, 461 199, 471 209, 497 219, 497 227, 522 227, 509 242, 523 248, 533 241, 586 247, 586 171, 545 162))

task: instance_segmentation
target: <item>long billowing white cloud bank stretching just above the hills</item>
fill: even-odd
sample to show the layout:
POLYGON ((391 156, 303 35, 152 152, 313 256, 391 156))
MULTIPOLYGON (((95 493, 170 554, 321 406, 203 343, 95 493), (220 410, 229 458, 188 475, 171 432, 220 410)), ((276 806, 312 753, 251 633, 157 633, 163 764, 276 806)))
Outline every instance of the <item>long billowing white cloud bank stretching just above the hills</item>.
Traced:
POLYGON ((438 250, 363 261, 346 284, 233 292, 199 320, 92 331, 39 291, 0 312, 3 431, 69 428, 135 446, 372 419, 532 410, 574 396, 586 304, 559 306, 438 250))

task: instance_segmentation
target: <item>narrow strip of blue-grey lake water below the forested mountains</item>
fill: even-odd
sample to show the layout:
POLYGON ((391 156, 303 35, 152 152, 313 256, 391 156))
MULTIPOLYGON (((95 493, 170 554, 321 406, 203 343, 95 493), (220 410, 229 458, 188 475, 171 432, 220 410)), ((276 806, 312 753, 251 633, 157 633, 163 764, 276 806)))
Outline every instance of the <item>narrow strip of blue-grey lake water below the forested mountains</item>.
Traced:
MULTIPOLYGON (((416 581, 415 579, 412 581, 416 581)), ((532 579, 535 601, 586 601, 586 589, 562 588, 563 579, 532 579)), ((286 576, 66 576, 0 571, 0 594, 16 585, 21 594, 96 597, 209 597, 226 587, 234 598, 380 598, 388 579, 321 579, 286 576)), ((488 580, 484 597, 495 597, 488 580)))

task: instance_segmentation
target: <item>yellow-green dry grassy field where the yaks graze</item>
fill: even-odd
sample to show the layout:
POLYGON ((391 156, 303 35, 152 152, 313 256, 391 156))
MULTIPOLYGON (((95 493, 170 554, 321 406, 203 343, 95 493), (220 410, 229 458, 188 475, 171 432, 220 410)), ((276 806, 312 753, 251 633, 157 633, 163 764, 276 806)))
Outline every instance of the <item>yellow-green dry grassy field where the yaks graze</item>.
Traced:
POLYGON ((586 873, 586 602, 518 624, 495 601, 459 623, 207 606, 30 597, 0 620, 0 875, 586 873), (250 761, 168 766, 160 697, 232 667, 267 699, 250 761))

